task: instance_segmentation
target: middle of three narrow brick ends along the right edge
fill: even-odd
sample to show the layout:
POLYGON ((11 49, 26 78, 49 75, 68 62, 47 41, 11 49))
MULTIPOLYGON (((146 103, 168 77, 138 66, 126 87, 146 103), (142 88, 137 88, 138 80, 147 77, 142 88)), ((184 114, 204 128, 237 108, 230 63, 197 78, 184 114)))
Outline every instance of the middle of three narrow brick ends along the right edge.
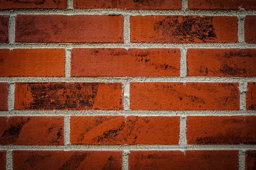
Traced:
POLYGON ((246 109, 256 110, 256 82, 248 82, 247 84, 246 109))

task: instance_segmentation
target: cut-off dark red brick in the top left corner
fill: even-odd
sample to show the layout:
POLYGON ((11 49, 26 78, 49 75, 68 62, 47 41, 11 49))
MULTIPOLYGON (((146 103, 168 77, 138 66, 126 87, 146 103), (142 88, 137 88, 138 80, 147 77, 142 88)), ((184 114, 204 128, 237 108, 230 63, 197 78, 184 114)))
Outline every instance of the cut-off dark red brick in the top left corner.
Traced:
POLYGON ((0 9, 64 9, 67 8, 67 0, 29 0, 10 1, 1 0, 0 9))

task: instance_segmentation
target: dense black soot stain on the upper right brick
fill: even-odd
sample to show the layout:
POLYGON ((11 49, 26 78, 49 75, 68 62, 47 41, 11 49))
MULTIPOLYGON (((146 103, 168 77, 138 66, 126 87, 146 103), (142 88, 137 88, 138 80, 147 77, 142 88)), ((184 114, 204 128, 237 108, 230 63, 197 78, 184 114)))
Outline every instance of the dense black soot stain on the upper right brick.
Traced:
POLYGON ((199 16, 169 16, 154 23, 154 30, 161 32, 165 39, 175 38, 178 42, 207 42, 215 40, 215 28, 212 24, 213 17, 199 16))

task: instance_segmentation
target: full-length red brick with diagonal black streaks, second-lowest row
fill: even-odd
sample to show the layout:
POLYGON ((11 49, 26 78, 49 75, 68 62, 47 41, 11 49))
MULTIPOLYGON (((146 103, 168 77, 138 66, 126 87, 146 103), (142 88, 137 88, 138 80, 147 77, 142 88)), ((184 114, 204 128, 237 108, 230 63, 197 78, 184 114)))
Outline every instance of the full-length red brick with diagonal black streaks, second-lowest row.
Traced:
POLYGON ((178 144, 178 116, 71 116, 72 144, 178 144))

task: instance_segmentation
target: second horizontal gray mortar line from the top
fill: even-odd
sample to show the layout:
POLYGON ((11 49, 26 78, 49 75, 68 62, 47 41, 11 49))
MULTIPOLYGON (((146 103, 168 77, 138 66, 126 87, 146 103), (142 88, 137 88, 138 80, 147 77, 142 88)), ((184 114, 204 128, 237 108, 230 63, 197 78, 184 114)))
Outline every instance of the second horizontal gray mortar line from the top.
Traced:
POLYGON ((1 43, 0 48, 256 48, 256 43, 1 43))

